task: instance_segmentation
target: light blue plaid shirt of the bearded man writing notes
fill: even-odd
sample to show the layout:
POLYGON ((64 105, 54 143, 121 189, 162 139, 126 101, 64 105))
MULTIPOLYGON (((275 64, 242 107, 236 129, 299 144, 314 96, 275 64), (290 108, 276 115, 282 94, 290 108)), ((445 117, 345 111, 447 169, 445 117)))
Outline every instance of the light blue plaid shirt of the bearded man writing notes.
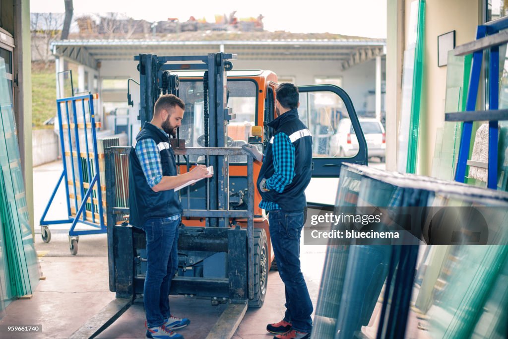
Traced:
MULTIPOLYGON (((169 135, 162 129, 159 131, 169 138, 169 135)), ((162 180, 162 163, 161 152, 153 139, 143 139, 136 144, 136 156, 138 156, 143 174, 145 175, 148 186, 153 188, 162 180)), ((168 220, 176 220, 180 218, 180 214, 172 215, 168 220)))

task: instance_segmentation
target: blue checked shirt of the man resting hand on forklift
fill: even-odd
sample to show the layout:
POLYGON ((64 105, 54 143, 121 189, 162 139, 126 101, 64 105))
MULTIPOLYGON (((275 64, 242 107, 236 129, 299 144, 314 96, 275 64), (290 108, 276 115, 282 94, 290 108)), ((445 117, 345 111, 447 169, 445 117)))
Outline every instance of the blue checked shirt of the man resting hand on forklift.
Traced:
MULTIPOLYGON (((281 132, 273 138, 272 151, 275 173, 266 180, 266 188, 282 193, 295 177, 295 146, 281 132)), ((261 200, 259 207, 267 211, 281 209, 277 203, 267 200, 261 200)))

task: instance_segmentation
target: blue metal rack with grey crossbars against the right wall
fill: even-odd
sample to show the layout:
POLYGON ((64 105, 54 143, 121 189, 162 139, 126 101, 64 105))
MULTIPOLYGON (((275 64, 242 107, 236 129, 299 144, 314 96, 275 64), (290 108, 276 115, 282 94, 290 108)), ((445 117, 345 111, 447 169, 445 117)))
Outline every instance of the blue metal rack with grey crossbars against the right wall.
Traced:
MULTIPOLYGON (((498 147, 498 120, 508 120, 508 110, 499 110, 499 46, 508 42, 508 17, 492 21, 485 25, 478 26, 477 40, 455 48, 455 55, 466 55, 473 53, 471 77, 469 82, 466 111, 447 113, 446 121, 464 121, 462 136, 460 140, 459 158, 455 181, 464 182, 466 178, 466 167, 468 165, 469 146, 472 134, 473 121, 489 121, 489 163, 487 187, 497 189, 497 147, 498 147), (488 60, 488 110, 475 110, 477 105, 478 88, 480 84, 483 54, 485 50, 490 51, 488 60)), ((487 74, 487 72, 486 72, 487 74)))

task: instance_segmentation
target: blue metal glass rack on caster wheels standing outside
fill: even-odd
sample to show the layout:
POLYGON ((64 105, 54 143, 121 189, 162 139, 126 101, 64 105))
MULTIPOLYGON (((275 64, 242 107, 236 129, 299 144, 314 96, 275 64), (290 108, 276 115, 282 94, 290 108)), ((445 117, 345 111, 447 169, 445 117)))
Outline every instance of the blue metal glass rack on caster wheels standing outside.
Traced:
POLYGON ((51 232, 47 225, 72 223, 69 230, 69 248, 73 255, 78 253, 79 235, 107 232, 102 197, 104 190, 101 186, 96 133, 96 127, 100 123, 96 123, 95 120, 94 99, 97 99, 97 95, 88 94, 56 100, 63 170, 41 217, 40 225, 43 240, 49 242, 51 232), (79 113, 82 114, 82 122, 78 121, 78 108, 81 108, 79 113), (88 129, 90 138, 88 137, 88 129), (64 133, 64 131, 67 133, 64 133), (84 144, 81 143, 80 131, 83 131, 84 144), (68 161, 70 166, 67 163, 68 161), (85 161, 86 165, 83 165, 85 161), (69 217, 47 221, 46 215, 64 179, 69 217), (69 192, 69 187, 72 187, 73 192, 69 192), (78 223, 96 229, 76 231, 75 228, 78 223))

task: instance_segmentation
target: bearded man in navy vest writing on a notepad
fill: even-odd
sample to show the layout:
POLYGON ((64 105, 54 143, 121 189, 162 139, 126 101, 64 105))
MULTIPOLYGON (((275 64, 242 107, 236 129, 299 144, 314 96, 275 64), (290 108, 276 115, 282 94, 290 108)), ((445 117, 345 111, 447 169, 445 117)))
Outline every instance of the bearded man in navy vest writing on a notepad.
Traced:
POLYGON ((182 206, 175 188, 194 179, 209 178, 206 166, 178 174, 169 136, 176 136, 185 104, 172 95, 157 99, 153 118, 136 137, 129 155, 129 223, 146 233, 146 276, 143 303, 146 337, 183 339, 174 332, 190 320, 171 314, 169 290, 178 269, 178 226, 182 206))

